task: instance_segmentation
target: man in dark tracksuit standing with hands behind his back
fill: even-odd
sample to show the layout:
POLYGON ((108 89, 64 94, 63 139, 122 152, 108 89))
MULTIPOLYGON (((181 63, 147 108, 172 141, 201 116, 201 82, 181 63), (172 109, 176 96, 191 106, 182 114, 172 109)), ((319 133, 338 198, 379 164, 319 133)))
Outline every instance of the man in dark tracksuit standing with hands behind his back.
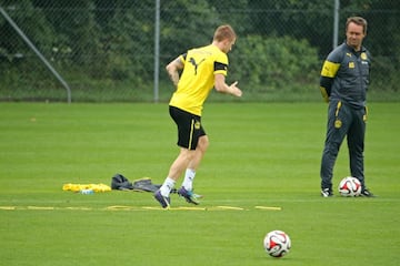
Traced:
POLYGON ((367 121, 367 90, 370 53, 362 47, 367 35, 367 21, 348 18, 346 41, 336 48, 323 63, 320 89, 329 102, 327 137, 321 162, 321 195, 332 196, 332 173, 339 149, 347 136, 351 176, 362 185, 361 195, 373 196, 364 181, 364 135, 367 121))

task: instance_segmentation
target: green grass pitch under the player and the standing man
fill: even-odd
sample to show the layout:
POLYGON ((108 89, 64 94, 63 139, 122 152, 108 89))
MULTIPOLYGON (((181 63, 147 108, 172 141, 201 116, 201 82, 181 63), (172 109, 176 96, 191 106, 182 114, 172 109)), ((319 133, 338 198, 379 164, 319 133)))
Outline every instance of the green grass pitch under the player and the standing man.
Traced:
MULTIPOLYGON (((366 175, 379 197, 319 196, 323 103, 212 103, 202 208, 157 211, 144 208, 158 206, 149 193, 62 185, 110 184, 116 173, 161 183, 178 153, 167 104, 1 103, 1 265, 398 265, 400 105, 369 110, 366 175), (292 239, 281 259, 262 248, 272 229, 292 239)), ((348 167, 344 143, 336 185, 348 167)))

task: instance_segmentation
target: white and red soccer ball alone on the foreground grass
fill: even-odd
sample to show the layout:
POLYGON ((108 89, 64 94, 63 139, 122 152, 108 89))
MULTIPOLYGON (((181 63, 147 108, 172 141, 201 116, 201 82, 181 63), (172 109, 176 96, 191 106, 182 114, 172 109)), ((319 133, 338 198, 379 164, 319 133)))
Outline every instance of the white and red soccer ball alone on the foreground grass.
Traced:
POLYGON ((289 235, 282 231, 271 231, 263 239, 266 252, 272 257, 283 257, 289 253, 291 242, 289 235))

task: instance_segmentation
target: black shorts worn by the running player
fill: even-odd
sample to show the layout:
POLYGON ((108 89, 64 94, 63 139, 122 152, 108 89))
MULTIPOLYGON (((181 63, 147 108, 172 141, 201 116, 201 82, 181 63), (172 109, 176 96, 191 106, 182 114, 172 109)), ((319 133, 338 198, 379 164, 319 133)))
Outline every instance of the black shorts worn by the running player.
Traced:
POLYGON ((174 106, 169 106, 169 112, 178 126, 178 146, 196 150, 199 137, 206 135, 201 125, 201 116, 174 106))

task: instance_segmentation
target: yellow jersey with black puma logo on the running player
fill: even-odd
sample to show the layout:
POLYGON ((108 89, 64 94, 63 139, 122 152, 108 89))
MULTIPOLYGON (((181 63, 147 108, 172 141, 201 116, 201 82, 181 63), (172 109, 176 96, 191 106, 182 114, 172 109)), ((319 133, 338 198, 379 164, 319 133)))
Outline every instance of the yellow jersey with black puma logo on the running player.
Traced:
POLYGON ((169 104, 201 116, 203 103, 214 86, 214 74, 227 75, 228 55, 210 44, 191 49, 180 59, 184 66, 169 104))

